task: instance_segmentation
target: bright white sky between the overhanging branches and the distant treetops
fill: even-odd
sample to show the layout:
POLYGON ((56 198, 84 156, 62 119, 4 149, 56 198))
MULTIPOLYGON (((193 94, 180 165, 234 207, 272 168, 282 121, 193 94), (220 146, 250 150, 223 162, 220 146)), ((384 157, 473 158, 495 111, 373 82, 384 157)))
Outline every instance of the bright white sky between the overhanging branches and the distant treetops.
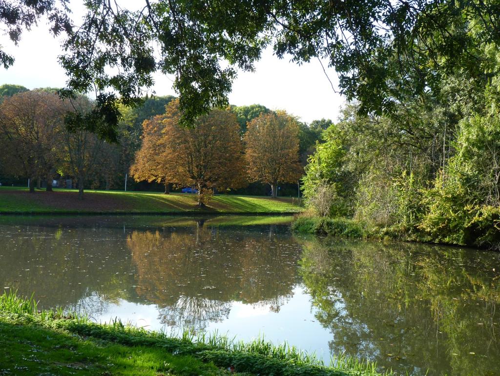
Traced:
MULTIPOLYGON (((57 63, 60 44, 45 25, 24 32, 18 46, 6 36, 1 37, 0 45, 15 58, 8 70, 0 68, 0 85, 17 84, 28 89, 65 86, 67 78, 57 63)), ((337 119, 344 101, 332 90, 317 60, 298 66, 286 59, 278 60, 271 50, 266 50, 255 68, 253 73, 238 73, 229 95, 230 104, 258 103, 272 110, 285 110, 308 123, 321 118, 337 119)), ((334 70, 327 69, 327 73, 336 89, 334 70)), ((156 95, 176 95, 171 77, 158 73, 154 82, 152 90, 156 95)))

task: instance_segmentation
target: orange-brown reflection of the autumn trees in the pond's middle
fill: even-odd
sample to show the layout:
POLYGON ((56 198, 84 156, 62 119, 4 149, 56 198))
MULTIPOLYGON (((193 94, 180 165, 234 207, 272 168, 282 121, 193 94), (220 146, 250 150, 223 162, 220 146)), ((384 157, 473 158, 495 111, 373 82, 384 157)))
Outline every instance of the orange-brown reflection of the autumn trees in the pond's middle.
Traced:
POLYGON ((127 238, 137 295, 159 307, 170 326, 204 327, 227 316, 231 302, 275 310, 297 283, 300 249, 268 231, 203 227, 133 231, 127 238))

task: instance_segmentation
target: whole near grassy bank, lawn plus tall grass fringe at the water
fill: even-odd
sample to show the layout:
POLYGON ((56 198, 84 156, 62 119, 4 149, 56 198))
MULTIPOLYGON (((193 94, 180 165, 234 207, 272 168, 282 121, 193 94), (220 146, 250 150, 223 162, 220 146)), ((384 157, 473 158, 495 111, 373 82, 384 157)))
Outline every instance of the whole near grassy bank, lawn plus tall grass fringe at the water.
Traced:
POLYGON ((0 354, 0 374, 381 375, 375 363, 339 355, 326 366, 314 354, 263 338, 236 342, 190 330, 169 336, 119 320, 94 323, 61 308, 40 311, 33 297, 15 293, 0 295, 0 347, 9 349, 0 354))

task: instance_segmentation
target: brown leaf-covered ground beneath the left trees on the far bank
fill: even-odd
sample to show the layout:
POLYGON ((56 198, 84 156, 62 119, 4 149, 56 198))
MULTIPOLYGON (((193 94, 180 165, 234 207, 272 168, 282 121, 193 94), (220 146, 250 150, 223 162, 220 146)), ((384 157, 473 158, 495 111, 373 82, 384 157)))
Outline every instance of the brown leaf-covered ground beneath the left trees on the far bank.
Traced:
POLYGON ((78 192, 45 192, 35 191, 3 191, 1 195, 12 195, 19 197, 26 204, 32 203, 33 210, 43 207, 53 210, 71 211, 123 211, 131 209, 120 197, 105 193, 86 192, 84 199, 78 199, 78 192))

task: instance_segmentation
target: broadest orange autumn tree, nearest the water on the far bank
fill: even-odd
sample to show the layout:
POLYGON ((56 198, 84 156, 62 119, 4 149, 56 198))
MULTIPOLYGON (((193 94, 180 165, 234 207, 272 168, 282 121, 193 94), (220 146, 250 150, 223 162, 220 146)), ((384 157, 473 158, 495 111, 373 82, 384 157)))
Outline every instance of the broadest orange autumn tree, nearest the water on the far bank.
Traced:
POLYGON ((130 169, 134 178, 195 186, 198 206, 205 206, 214 189, 223 191, 246 184, 234 114, 212 110, 187 128, 179 126, 178 100, 171 101, 165 110, 164 115, 143 123, 142 146, 130 169))

